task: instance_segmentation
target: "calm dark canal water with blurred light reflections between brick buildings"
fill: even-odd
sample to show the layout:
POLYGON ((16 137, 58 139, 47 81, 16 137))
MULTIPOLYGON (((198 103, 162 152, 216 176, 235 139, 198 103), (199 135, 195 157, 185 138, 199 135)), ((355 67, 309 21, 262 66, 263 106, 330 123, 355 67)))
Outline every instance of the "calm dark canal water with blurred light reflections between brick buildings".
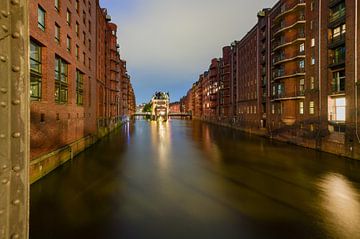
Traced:
POLYGON ((32 239, 360 238, 359 163, 137 121, 31 187, 32 239))

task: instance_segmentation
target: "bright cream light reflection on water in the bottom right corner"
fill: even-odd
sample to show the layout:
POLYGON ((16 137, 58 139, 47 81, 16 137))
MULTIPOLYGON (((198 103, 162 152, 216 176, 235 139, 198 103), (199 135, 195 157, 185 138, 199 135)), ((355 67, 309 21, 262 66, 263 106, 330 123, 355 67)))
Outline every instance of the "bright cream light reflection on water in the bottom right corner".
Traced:
POLYGON ((337 238, 360 237, 359 190, 337 173, 328 173, 317 182, 320 208, 327 228, 337 238))

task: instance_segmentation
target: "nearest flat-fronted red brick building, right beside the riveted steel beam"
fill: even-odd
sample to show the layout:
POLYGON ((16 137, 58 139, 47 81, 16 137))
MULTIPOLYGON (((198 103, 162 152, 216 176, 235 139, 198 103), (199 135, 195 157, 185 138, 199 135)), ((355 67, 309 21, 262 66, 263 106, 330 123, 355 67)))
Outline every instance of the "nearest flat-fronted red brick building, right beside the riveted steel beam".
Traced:
POLYGON ((96 4, 32 0, 29 7, 37 23, 30 24, 34 159, 96 133, 96 4))

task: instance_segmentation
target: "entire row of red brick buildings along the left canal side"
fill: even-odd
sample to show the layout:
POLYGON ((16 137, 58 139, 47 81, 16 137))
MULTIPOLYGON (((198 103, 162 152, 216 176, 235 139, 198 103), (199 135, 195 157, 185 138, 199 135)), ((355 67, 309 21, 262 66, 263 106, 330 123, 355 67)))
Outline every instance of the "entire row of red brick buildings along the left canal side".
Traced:
POLYGON ((121 98, 117 27, 98 0, 31 0, 29 9, 35 23, 30 24, 33 182, 94 143, 102 126, 119 122, 129 102, 121 98))

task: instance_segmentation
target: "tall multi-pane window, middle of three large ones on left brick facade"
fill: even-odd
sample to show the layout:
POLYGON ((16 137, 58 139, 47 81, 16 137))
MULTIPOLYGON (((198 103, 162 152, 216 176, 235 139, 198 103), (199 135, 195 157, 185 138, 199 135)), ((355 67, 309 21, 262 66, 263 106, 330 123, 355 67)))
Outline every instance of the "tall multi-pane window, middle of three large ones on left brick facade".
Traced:
POLYGON ((68 101, 68 64, 55 56, 55 102, 64 104, 68 101))

